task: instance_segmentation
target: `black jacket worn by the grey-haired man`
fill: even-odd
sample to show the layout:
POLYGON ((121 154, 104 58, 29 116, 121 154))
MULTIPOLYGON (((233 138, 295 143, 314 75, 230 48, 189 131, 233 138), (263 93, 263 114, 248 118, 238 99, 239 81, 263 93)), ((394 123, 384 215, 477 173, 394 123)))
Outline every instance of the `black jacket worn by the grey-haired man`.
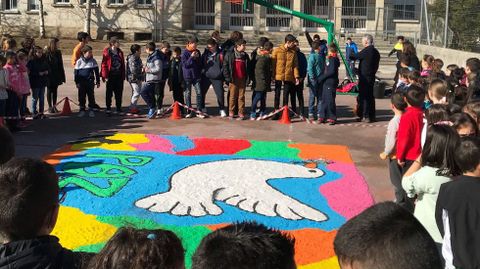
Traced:
POLYGON ((380 53, 373 45, 364 48, 356 55, 350 55, 350 59, 360 60, 358 66, 358 76, 360 79, 375 80, 375 74, 380 65, 380 53))

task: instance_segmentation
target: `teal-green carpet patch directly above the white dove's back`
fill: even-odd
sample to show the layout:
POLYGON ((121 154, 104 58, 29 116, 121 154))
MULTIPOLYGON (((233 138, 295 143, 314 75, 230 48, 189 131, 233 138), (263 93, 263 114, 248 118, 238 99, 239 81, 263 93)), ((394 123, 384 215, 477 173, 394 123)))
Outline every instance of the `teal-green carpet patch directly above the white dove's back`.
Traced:
POLYGON ((251 140, 252 146, 248 149, 238 152, 237 156, 249 158, 286 158, 300 160, 298 154, 300 150, 290 148, 289 142, 266 142, 251 140))

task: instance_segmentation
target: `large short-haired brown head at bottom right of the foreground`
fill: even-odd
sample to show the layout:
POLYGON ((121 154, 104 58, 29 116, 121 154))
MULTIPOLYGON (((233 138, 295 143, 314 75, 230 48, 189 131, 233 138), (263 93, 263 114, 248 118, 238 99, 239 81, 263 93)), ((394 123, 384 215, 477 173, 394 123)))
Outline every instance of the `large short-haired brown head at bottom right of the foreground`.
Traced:
POLYGON ((427 230, 393 202, 376 204, 347 221, 333 247, 342 269, 441 268, 440 255, 427 230))

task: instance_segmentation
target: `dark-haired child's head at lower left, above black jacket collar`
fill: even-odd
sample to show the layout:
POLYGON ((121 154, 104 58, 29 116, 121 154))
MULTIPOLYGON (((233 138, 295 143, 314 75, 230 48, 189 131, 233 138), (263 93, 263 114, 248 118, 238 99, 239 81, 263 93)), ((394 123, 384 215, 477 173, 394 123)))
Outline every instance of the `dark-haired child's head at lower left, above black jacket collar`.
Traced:
POLYGON ((0 169, 0 234, 9 242, 48 235, 59 208, 55 169, 30 158, 13 158, 0 169))

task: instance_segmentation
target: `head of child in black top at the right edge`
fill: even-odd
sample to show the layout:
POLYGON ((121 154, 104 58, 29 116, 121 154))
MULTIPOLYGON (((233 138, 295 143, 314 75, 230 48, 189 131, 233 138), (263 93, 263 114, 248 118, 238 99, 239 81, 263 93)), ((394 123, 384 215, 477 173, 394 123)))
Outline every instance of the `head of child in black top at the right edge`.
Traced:
POLYGON ((455 150, 455 160, 463 174, 474 173, 480 176, 480 138, 462 138, 455 150))

